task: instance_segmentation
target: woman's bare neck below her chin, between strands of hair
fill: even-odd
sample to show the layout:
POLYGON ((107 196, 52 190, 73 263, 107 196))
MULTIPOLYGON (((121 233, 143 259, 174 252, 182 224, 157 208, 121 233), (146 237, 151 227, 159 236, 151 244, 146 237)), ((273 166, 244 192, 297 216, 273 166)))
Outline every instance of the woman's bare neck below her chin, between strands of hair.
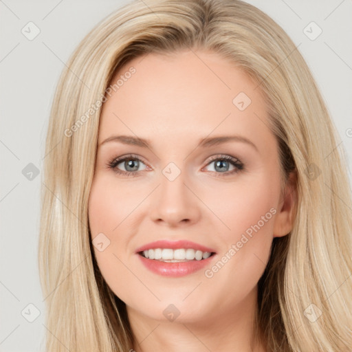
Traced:
POLYGON ((199 320, 155 320, 127 307, 135 352, 265 352, 254 331, 256 289, 232 309, 219 307, 199 320))

